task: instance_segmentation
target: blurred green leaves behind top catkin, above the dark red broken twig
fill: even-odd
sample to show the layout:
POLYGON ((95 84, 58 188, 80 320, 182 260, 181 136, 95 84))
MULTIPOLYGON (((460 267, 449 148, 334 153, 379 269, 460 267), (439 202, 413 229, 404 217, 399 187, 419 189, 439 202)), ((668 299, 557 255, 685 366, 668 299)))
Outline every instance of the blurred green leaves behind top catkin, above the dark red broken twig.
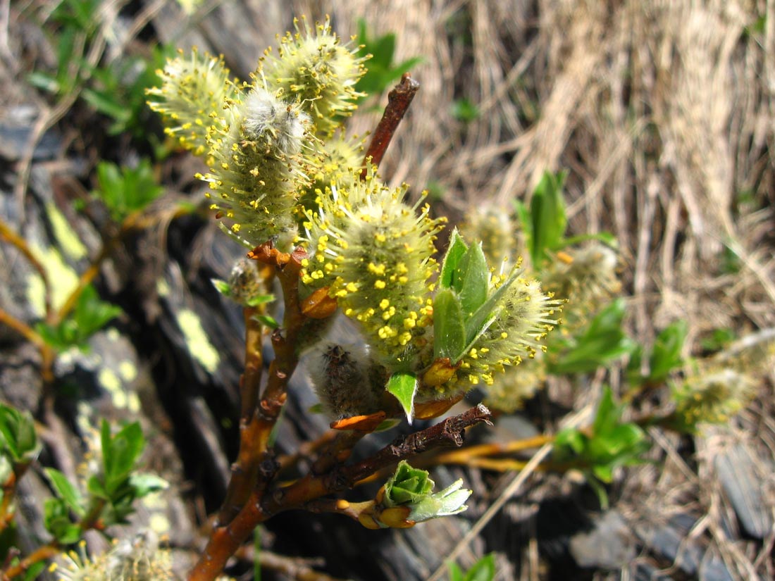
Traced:
POLYGON ((412 57, 399 64, 393 64, 395 53, 395 33, 387 33, 383 36, 372 38, 369 36, 366 21, 358 20, 358 39, 360 45, 358 56, 371 55, 368 70, 355 85, 355 90, 367 95, 381 95, 401 75, 417 64, 422 63, 422 58, 412 57))

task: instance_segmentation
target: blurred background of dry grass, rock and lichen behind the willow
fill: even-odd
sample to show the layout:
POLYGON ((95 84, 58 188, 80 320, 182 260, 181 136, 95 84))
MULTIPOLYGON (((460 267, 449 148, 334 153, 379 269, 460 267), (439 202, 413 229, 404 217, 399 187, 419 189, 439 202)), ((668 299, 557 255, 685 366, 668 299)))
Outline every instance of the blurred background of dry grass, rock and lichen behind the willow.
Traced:
MULTIPOLYGON (((381 174, 412 198, 428 190, 435 215, 511 215, 545 171, 567 170, 568 234, 617 241, 629 336, 649 346, 685 321, 689 357, 775 326, 772 0, 2 0, 0 216, 43 263, 53 304, 109 246, 94 284, 122 314, 88 338, 88 353, 60 353, 53 396, 36 349, 0 325, 0 395, 46 426, 41 462, 71 473, 97 418, 143 418, 146 464, 172 486, 133 526, 166 535, 181 570, 236 453, 243 321, 210 280, 227 278, 243 250, 208 219, 193 177, 202 165, 165 142, 144 91, 167 56, 191 46, 247 79, 301 15, 330 15, 345 39, 374 41, 384 82, 350 133, 374 128, 381 90, 402 70, 420 83, 381 174), (394 45, 376 42, 388 35, 394 45), (106 205, 106 191, 121 200, 106 205), (122 226, 146 195, 155 218, 122 226)), ((47 294, 18 245, 0 245, 0 270, 0 307, 30 323, 43 316, 47 294)), ((618 393, 622 376, 612 363, 574 383, 549 378, 496 437, 553 428, 604 383, 618 393)), ((662 404, 657 395, 644 409, 662 404)), ((533 474, 459 545, 513 493, 515 474, 456 467, 434 477, 446 486, 463 476, 474 489, 459 517, 366 534, 341 517, 285 515, 261 543, 291 559, 266 578, 301 578, 288 563, 312 559, 336 579, 429 579, 456 550, 464 568, 497 552, 496 579, 773 579, 772 395, 770 368, 724 425, 649 431, 653 462, 617 473, 608 510, 574 473, 533 474)), ((300 373, 283 452, 325 431, 313 404, 300 373)), ((50 491, 36 470, 23 486, 20 530, 35 546, 45 536, 37 499, 50 491)), ((238 556, 229 574, 252 579, 252 553, 238 556)))

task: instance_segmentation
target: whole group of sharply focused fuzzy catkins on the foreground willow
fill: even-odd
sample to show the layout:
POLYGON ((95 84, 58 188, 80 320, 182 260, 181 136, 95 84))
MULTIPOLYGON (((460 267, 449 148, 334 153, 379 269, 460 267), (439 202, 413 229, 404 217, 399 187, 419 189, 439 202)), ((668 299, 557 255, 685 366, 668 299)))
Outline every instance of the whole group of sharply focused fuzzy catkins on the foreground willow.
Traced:
MULTIPOLYGON (((480 262, 477 281, 490 298, 475 316, 466 313, 474 322, 458 329, 453 343, 465 349, 456 360, 436 360, 434 332, 445 321, 434 315, 435 242, 444 220, 431 218, 424 196, 412 204, 407 187, 384 184, 370 163, 363 171, 362 148, 343 121, 363 97, 356 83, 364 60, 329 19, 302 19, 264 53, 249 83, 232 80, 222 58, 193 50, 171 60, 161 87, 149 91, 168 135, 205 159, 208 170, 197 177, 223 228, 250 248, 304 246, 301 297, 335 299, 360 328, 361 348, 323 342, 311 356, 323 407, 339 418, 377 411, 395 374, 429 376, 441 365, 418 388, 425 401, 493 383, 494 372, 539 349, 559 304, 521 270, 490 276, 480 262)), ((224 284, 251 304, 259 290, 244 288, 243 270, 224 284)), ((298 350, 323 326, 308 325, 298 350)))

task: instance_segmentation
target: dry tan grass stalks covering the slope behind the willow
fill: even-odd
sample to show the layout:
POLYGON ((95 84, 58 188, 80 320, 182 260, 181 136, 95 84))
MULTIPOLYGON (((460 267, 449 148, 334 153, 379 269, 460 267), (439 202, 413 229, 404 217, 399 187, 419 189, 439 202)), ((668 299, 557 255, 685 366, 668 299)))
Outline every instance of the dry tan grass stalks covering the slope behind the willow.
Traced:
MULTIPOLYGON (((422 89, 384 160, 389 180, 440 184, 464 215, 508 208, 544 170, 567 168, 571 228, 619 241, 633 335, 649 342, 684 318, 688 350, 715 328, 775 325, 775 1, 245 0, 193 20, 172 2, 147 7, 163 40, 224 52, 243 75, 291 13, 329 13, 341 33, 360 18, 398 33, 396 59, 423 58, 413 70, 422 89), (765 13, 763 32, 748 33, 765 13), (467 125, 450 111, 463 97, 481 113, 467 125)), ((353 131, 377 118, 360 115, 353 131)), ((629 514, 692 507, 707 515, 693 534, 715 543, 740 579, 772 576, 772 538, 754 552, 723 534, 729 506, 711 462, 742 439, 771 481, 770 405, 698 438, 696 464, 656 438, 663 466, 639 469, 625 486, 629 514)))

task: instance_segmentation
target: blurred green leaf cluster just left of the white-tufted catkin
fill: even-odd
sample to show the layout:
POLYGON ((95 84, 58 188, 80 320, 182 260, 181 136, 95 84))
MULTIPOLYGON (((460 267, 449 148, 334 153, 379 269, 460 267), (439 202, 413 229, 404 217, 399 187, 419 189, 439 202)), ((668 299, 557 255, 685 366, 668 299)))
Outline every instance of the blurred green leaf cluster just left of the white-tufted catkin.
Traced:
POLYGON ((97 166, 98 188, 94 194, 110 211, 115 222, 122 222, 134 211, 142 210, 164 193, 157 184, 150 160, 143 158, 136 167, 119 167, 102 161, 97 166))

